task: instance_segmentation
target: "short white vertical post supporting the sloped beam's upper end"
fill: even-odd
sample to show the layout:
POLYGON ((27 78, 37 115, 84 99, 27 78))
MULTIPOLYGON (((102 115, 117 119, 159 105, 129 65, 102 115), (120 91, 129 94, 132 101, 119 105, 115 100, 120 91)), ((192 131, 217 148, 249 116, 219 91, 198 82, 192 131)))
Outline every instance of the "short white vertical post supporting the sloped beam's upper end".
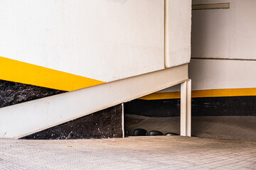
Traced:
POLYGON ((181 136, 191 137, 191 79, 181 84, 181 136))

